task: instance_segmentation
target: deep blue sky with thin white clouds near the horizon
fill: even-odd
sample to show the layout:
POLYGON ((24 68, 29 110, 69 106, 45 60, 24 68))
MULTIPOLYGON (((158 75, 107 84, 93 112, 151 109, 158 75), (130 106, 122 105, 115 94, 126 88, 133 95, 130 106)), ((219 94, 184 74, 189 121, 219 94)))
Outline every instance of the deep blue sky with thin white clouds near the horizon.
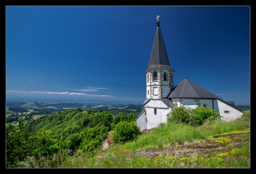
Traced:
POLYGON ((250 104, 249 6, 7 6, 6 101, 143 104, 157 15, 175 86, 250 104))

